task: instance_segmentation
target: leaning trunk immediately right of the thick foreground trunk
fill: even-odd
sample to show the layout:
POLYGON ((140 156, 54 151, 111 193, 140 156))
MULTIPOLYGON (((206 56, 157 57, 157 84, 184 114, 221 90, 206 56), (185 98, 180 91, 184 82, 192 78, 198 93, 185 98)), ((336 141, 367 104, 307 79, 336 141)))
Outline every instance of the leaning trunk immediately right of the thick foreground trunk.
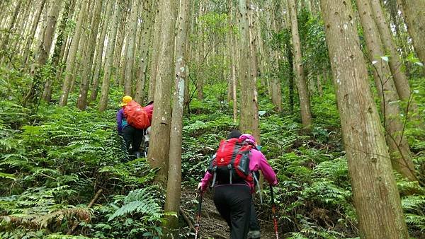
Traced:
POLYGON ((407 139, 402 133, 404 127, 399 118, 401 112, 397 103, 398 95, 391 76, 390 66, 381 59, 381 56, 384 55, 384 49, 378 35, 378 28, 373 21, 370 2, 369 0, 356 0, 356 3, 368 46, 369 58, 373 62, 375 86, 378 89, 382 116, 384 117, 385 139, 390 147, 392 168, 409 180, 417 180, 409 144, 407 144, 407 139))

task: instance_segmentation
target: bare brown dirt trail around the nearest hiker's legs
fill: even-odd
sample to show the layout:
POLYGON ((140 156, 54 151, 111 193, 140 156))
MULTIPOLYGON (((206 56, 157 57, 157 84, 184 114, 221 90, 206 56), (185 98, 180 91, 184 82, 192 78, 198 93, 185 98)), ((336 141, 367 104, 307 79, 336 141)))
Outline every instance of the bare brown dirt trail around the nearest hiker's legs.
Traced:
MULTIPOLYGON (((191 220, 194 226, 196 223, 196 210, 197 210, 197 199, 198 194, 196 189, 183 190, 181 192, 181 207, 183 213, 186 214, 187 220, 191 220)), ((259 213, 257 211, 257 213, 259 213)), ((259 216, 260 217, 260 216, 259 216)), ((261 238, 276 238, 273 229, 273 220, 270 218, 268 221, 261 220, 259 218, 261 228, 261 238)), ((229 226, 226 221, 220 216, 217 209, 215 209, 214 202, 212 201, 212 190, 207 190, 203 194, 202 210, 200 216, 200 236, 201 238, 214 238, 214 239, 225 239, 229 238, 229 226)))

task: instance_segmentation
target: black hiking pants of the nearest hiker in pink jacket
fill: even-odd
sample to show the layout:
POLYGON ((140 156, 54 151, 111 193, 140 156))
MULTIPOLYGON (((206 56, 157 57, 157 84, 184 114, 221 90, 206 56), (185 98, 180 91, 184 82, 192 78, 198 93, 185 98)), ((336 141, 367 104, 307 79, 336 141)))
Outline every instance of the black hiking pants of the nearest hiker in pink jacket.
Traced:
POLYGON ((251 216, 251 190, 245 184, 217 185, 214 204, 230 227, 231 239, 245 239, 251 216))

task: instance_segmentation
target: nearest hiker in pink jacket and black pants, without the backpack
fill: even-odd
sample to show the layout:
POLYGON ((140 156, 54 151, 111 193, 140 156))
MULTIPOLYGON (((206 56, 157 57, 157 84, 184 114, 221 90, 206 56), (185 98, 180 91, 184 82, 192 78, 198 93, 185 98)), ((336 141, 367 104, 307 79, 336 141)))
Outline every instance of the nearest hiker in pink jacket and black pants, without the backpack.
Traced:
MULTIPOLYGON (((237 132, 231 132, 227 139, 234 138, 235 136, 232 134, 237 134, 237 132)), ((239 139, 243 139, 253 146, 249 153, 249 170, 251 172, 261 170, 264 179, 269 184, 277 185, 276 173, 266 161, 263 153, 256 149, 254 136, 242 134, 239 139)), ((205 191, 212 177, 213 174, 207 171, 198 184, 198 189, 205 191)), ((220 215, 227 221, 232 239, 246 238, 248 234, 252 192, 254 192, 254 180, 237 181, 232 182, 232 184, 229 182, 216 182, 214 185, 214 204, 220 215)))

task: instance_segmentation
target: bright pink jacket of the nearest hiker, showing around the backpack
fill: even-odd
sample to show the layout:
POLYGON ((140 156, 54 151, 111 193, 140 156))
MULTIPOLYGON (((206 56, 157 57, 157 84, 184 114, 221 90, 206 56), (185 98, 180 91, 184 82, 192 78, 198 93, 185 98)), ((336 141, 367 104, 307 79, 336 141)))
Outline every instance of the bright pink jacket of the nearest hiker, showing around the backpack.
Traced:
MULTIPOLYGON (((254 172, 256 170, 261 170, 263 173, 264 179, 267 180, 271 185, 278 184, 278 178, 276 177, 276 173, 274 173, 273 168, 267 163, 266 157, 264 157, 263 153, 252 148, 251 154, 249 155, 249 170, 254 172)), ((203 179, 201 180, 201 190, 205 191, 208 187, 208 183, 212 180, 212 174, 210 172, 206 172, 203 179)), ((254 182, 248 182, 249 187, 251 187, 251 192, 254 192, 254 182)))

